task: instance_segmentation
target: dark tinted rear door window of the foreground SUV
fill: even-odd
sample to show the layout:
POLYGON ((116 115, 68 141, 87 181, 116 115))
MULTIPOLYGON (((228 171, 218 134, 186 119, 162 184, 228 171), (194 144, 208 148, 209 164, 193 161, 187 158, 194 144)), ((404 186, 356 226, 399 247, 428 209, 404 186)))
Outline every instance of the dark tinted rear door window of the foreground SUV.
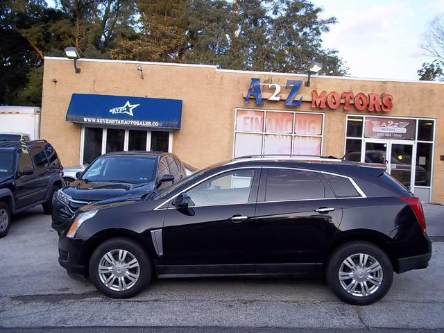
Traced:
POLYGON ((268 169, 266 201, 324 198, 324 185, 314 172, 268 169))

